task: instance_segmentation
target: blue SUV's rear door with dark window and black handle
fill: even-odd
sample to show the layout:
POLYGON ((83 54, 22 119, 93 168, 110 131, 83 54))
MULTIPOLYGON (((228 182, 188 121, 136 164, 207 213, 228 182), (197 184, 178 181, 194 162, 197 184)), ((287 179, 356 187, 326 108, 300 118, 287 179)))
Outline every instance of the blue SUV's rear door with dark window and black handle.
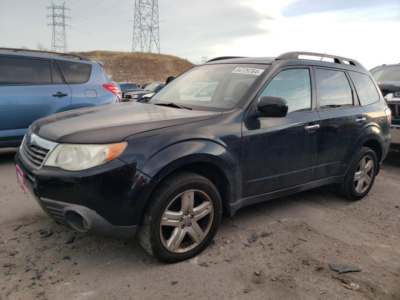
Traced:
POLYGON ((22 140, 32 122, 70 104, 71 89, 52 60, 0 56, 0 142, 22 140))

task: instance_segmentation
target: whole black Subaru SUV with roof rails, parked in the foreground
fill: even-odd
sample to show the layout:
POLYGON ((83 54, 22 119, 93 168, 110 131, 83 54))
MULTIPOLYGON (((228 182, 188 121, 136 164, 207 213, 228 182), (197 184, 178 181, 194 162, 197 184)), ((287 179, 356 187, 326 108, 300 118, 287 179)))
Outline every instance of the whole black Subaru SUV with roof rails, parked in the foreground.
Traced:
POLYGON ((15 160, 21 187, 56 222, 115 238, 138 231, 164 262, 200 253, 221 214, 249 204, 324 184, 361 199, 391 139, 370 73, 325 54, 215 58, 150 102, 37 120, 15 160), (207 82, 202 97, 181 94, 207 82))

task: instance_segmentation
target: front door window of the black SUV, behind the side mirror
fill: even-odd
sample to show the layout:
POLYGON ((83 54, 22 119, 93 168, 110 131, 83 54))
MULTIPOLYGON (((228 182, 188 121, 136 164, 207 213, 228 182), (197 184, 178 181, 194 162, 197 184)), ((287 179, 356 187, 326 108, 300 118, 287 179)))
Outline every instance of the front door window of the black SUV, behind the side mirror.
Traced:
POLYGON ((279 72, 264 88, 258 101, 267 96, 285 99, 289 106, 288 113, 311 110, 310 70, 289 69, 279 72))

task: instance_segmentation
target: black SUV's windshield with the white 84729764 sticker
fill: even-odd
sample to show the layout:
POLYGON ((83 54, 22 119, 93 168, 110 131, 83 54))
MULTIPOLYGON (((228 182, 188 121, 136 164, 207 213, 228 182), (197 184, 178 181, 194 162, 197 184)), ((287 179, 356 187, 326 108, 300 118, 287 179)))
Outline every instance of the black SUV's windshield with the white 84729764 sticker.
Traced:
MULTIPOLYGON (((153 96, 153 104, 175 103, 194 110, 226 111, 268 68, 265 64, 209 64, 178 76, 153 96)), ((147 88, 146 88, 147 89, 147 88)))

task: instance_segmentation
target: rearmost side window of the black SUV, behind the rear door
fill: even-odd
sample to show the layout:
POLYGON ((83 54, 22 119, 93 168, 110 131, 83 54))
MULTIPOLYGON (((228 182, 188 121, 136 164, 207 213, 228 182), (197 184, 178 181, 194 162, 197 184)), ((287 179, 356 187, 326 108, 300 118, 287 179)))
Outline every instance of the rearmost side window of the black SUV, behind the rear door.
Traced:
POLYGON ((379 100, 379 94, 370 76, 354 71, 348 71, 356 88, 361 105, 368 105, 379 100))

